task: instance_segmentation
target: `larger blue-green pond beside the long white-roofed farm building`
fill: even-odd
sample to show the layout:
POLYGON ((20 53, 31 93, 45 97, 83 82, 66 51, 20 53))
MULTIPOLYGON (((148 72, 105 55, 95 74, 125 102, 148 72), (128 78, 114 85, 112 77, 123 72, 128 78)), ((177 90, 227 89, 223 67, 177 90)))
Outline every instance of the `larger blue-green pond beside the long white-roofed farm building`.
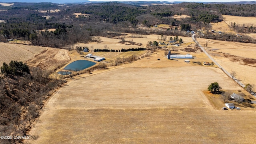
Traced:
POLYGON ((86 68, 89 68, 90 66, 93 66, 94 64, 96 64, 96 62, 91 62, 88 60, 77 60, 77 61, 74 61, 74 62, 68 64, 64 68, 64 70, 73 70, 73 71, 84 70, 86 68))

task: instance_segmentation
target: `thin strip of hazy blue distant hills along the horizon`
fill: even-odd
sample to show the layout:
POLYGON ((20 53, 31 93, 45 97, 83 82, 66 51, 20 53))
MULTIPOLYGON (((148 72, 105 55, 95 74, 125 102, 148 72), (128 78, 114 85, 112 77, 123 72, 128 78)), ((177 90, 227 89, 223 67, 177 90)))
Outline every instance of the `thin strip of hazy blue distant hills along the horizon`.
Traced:
MULTIPOLYGON (((28 2, 28 3, 35 3, 35 0, 0 0, 0 3, 14 3, 14 2, 28 2)), ((78 3, 78 4, 83 4, 83 3, 99 3, 103 1, 97 1, 97 2, 91 2, 89 0, 37 0, 36 2, 52 2, 56 4, 68 4, 68 3, 78 3)), ((104 1, 106 2, 106 1, 104 1)), ((131 5, 151 5, 151 4, 178 4, 182 2, 168 2, 168 1, 112 1, 112 2, 121 2, 124 4, 131 4, 131 5)), ((186 1, 184 1, 186 2, 186 1)), ((256 4, 256 1, 241 1, 241 2, 197 2, 197 3, 214 3, 214 4, 221 4, 221 3, 227 3, 227 4, 256 4)))

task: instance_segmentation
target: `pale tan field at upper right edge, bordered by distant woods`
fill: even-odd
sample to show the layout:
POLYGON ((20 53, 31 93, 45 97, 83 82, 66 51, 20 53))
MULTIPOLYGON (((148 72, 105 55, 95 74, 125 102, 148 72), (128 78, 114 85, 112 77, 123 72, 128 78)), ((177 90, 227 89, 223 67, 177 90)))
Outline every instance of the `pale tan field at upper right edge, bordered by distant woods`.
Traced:
POLYGON ((224 18, 224 21, 230 25, 230 23, 236 23, 240 24, 241 26, 245 24, 245 26, 254 26, 256 23, 256 17, 254 16, 228 16, 228 15, 222 15, 224 18))

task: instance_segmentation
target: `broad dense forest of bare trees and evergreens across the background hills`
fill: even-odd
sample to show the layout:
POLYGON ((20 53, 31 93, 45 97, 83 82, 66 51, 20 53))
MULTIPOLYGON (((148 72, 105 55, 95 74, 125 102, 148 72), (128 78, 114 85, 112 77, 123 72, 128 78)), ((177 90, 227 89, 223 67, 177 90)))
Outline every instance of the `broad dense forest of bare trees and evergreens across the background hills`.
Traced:
MULTIPOLYGON (((135 34, 165 34, 189 36, 182 31, 208 28, 210 22, 223 20, 222 14, 233 16, 256 16, 256 4, 203 4, 184 2, 173 5, 135 6, 123 3, 98 4, 52 4, 14 3, 0 6, 0 40, 19 39, 33 45, 64 48, 76 42, 94 41, 94 36, 115 36, 118 32, 135 34), (74 13, 86 15, 76 16, 74 13), (175 19, 174 15, 190 17, 175 19), (176 29, 148 30, 156 24, 169 24, 176 29), (50 29, 50 30, 49 30, 50 29)), ((248 23, 248 22, 247 22, 248 23)), ((254 33, 254 26, 235 25, 238 32, 254 33)), ((236 40, 226 34, 224 37, 208 34, 206 38, 236 40)), ((247 38, 246 38, 247 39, 247 38)))

